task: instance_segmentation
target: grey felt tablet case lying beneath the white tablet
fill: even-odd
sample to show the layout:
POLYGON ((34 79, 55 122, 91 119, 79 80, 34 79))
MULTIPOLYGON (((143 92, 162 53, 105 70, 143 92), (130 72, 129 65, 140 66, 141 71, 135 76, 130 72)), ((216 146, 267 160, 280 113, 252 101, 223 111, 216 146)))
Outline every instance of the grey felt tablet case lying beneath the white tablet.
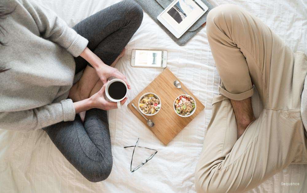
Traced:
POLYGON ((167 28, 164 27, 157 17, 164 9, 166 9, 173 0, 134 0, 137 2, 146 13, 180 46, 185 45, 195 34, 201 30, 202 26, 206 20, 208 12, 213 8, 213 6, 206 0, 201 0, 208 7, 208 11, 201 16, 189 29, 186 31, 179 39, 177 39, 167 28))

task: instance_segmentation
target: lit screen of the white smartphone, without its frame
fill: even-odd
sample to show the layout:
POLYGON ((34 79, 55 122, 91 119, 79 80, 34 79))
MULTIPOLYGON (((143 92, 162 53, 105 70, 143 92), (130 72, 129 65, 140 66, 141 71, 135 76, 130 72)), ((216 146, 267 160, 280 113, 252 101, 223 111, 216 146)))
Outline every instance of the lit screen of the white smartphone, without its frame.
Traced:
POLYGON ((162 67, 163 51, 136 50, 134 66, 162 67))

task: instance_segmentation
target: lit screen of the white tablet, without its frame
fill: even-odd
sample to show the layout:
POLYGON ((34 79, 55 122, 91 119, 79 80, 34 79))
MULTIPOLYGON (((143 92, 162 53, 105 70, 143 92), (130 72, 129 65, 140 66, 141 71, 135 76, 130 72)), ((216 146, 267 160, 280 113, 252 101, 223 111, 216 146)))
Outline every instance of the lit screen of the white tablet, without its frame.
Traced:
POLYGON ((204 14, 204 9, 195 0, 178 0, 161 17, 181 34, 197 18, 204 14))

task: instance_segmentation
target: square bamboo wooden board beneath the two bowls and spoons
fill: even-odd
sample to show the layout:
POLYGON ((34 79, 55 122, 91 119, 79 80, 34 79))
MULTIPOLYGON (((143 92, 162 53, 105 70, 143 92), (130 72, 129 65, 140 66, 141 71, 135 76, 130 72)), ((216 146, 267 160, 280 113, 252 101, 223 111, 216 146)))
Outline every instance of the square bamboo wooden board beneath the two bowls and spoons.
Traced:
POLYGON ((180 81, 169 70, 165 69, 157 78, 155 78, 141 93, 138 94, 129 104, 128 107, 145 125, 146 120, 140 113, 134 109, 132 103, 138 108, 138 100, 144 93, 155 93, 161 99, 161 109, 153 116, 147 116, 147 119, 153 120, 155 126, 148 127, 157 138, 167 145, 185 126, 194 119, 205 107, 204 105, 181 83, 181 87, 196 100, 196 110, 193 115, 189 117, 180 117, 174 111, 173 104, 176 97, 185 94, 181 89, 177 89, 173 82, 174 80, 180 81))

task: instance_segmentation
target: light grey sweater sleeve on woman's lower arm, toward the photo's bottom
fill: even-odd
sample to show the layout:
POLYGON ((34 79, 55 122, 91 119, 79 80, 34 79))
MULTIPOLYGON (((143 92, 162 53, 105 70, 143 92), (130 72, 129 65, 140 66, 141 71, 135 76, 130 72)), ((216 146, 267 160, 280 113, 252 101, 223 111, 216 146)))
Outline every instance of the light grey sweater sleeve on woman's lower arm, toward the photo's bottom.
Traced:
POLYGON ((75 108, 71 99, 17 112, 0 112, 0 128, 36 130, 61 121, 73 121, 75 108))

